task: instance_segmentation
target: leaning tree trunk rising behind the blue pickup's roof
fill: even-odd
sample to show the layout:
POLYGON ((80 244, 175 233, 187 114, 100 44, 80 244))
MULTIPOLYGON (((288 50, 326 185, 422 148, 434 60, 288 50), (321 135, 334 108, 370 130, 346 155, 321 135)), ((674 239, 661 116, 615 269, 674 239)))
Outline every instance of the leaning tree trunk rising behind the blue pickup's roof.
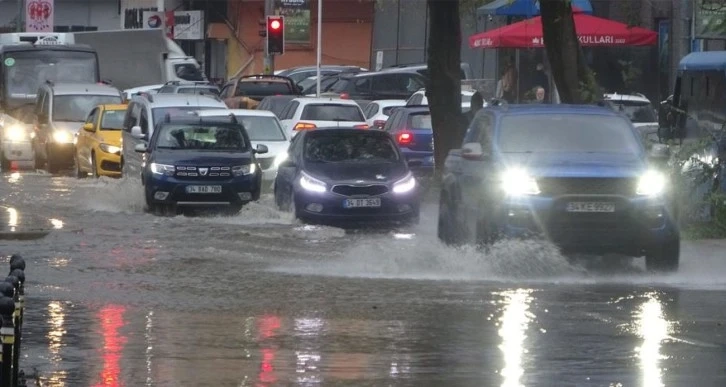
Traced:
POLYGON ((577 39, 570 0, 540 0, 540 14, 547 59, 560 101, 576 104, 598 99, 602 94, 577 39))

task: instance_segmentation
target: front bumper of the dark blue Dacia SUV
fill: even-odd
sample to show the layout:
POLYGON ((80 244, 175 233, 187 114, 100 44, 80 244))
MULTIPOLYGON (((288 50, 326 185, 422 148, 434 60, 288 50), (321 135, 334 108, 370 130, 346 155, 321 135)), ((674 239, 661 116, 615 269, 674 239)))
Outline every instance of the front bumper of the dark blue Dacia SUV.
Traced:
POLYGON ((180 180, 169 176, 145 176, 147 199, 152 203, 205 207, 245 204, 260 198, 260 175, 228 180, 180 180), (189 193, 189 186, 220 186, 219 193, 189 193), (166 193, 166 195, 164 195, 166 193))

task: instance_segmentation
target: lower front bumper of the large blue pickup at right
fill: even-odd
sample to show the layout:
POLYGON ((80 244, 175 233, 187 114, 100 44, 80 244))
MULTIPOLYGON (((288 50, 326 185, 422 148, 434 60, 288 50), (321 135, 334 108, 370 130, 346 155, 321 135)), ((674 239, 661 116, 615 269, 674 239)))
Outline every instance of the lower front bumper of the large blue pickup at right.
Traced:
POLYGON ((510 198, 497 209, 506 237, 540 235, 566 252, 638 256, 678 237, 662 199, 626 197, 510 198), (569 202, 614 202, 615 212, 568 212, 569 202))

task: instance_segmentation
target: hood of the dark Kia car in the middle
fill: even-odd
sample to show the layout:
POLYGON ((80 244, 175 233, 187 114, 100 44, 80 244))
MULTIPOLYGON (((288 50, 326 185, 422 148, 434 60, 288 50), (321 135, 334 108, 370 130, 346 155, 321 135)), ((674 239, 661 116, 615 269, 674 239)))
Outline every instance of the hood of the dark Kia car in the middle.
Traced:
POLYGON ((402 163, 305 163, 305 172, 327 182, 390 183, 408 173, 402 163))

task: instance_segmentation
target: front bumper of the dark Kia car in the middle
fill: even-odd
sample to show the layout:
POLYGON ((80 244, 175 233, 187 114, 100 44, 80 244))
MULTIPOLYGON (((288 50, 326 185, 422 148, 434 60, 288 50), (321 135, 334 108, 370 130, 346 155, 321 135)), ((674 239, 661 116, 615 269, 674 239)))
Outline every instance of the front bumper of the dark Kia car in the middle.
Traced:
POLYGON ((414 190, 408 194, 386 193, 359 199, 380 198, 380 207, 345 208, 346 199, 353 197, 332 192, 295 191, 295 207, 298 216, 306 221, 319 223, 387 223, 407 222, 418 218, 420 194, 414 190))

